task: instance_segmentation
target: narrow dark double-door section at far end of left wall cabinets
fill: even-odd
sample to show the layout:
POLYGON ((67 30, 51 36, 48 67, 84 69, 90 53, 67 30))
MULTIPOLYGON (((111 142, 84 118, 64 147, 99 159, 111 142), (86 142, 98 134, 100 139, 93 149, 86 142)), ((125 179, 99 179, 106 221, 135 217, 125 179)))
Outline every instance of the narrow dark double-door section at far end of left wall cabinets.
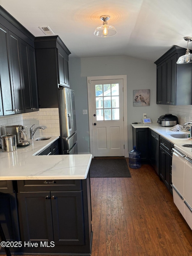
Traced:
POLYGON ((35 49, 19 39, 25 112, 39 110, 35 49))

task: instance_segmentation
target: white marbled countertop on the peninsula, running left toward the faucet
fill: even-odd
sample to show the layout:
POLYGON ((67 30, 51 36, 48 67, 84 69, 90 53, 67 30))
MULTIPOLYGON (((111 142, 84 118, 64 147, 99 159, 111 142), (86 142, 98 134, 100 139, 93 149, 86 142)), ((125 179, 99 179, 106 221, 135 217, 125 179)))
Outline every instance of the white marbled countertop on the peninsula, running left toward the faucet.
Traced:
POLYGON ((92 155, 37 155, 59 137, 30 140, 14 152, 0 150, 0 180, 86 179, 92 155))

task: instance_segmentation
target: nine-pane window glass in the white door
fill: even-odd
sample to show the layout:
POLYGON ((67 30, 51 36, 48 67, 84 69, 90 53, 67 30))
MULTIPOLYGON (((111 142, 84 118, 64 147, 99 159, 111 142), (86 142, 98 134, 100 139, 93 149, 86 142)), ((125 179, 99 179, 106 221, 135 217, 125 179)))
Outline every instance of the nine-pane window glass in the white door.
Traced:
POLYGON ((119 120, 119 83, 95 85, 98 120, 119 120))

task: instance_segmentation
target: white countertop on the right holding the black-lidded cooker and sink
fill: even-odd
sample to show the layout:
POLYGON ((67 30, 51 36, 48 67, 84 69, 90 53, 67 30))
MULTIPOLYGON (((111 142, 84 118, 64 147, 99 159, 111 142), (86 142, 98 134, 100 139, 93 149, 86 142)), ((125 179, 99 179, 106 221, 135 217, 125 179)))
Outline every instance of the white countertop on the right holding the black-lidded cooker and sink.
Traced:
MULTIPOLYGON (((152 131, 155 131, 165 139, 169 140, 171 143, 174 144, 174 147, 179 149, 181 152, 192 158, 192 148, 188 147, 183 147, 183 144, 192 144, 192 140, 188 139, 178 139, 172 137, 170 134, 176 134, 176 133, 190 133, 189 131, 185 131, 183 129, 182 131, 171 131, 171 126, 166 126, 163 127, 157 123, 152 123, 152 124, 143 124, 143 123, 138 123, 138 124, 131 124, 134 128, 150 128, 152 131)), ((188 125, 190 126, 190 125, 188 125)))

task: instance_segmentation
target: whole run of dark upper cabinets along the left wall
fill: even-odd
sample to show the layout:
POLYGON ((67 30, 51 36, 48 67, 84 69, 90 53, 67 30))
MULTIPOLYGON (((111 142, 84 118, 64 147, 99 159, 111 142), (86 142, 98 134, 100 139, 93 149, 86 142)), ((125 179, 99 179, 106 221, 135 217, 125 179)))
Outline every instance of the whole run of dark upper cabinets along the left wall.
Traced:
POLYGON ((0 6, 0 115, 38 110, 34 38, 0 6))

